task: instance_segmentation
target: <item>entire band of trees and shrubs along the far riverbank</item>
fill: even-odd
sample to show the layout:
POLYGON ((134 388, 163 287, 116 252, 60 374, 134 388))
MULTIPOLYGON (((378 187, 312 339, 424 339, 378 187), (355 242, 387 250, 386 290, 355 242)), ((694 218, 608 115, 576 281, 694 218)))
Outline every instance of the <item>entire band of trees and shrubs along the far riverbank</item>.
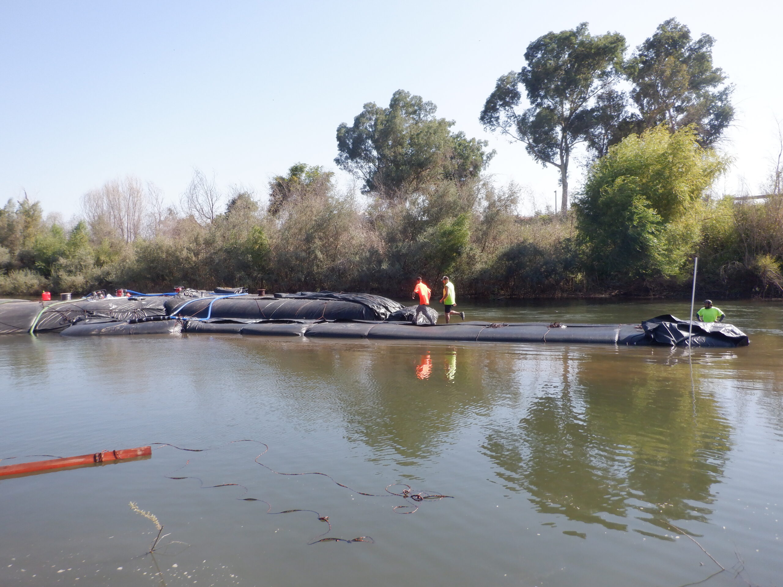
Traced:
POLYGON ((765 198, 716 196, 730 164, 716 145, 734 110, 712 45, 675 20, 627 57, 622 35, 586 24, 530 44, 480 120, 557 167, 558 214, 518 214, 529 191, 485 175, 487 143, 399 90, 337 128, 335 164, 355 185, 298 163, 262 193, 224 192, 195 171, 179 203, 165 204, 153 185, 125 178, 86 194, 68 223, 9 200, 0 294, 182 285, 399 296, 416 275, 432 284, 449 274, 463 295, 680 295, 698 255, 702 292, 779 297, 783 149, 765 198), (569 209, 575 149, 590 158, 569 209))

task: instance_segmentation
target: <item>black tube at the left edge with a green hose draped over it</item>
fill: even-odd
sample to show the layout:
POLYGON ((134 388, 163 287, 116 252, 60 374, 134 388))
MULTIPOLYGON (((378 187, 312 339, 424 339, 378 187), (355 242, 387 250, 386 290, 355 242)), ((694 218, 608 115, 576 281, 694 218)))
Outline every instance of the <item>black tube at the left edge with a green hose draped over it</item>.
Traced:
POLYGON ((110 318, 128 320, 166 315, 161 297, 130 300, 110 297, 103 300, 13 301, 0 304, 0 334, 62 330, 78 319, 110 318))

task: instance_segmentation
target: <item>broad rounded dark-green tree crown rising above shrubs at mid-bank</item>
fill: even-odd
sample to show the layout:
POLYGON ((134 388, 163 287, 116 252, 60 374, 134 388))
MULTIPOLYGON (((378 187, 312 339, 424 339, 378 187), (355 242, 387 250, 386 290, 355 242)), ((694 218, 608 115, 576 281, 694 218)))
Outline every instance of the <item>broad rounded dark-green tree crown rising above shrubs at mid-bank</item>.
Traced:
POLYGON ((388 108, 370 102, 353 125, 337 127, 334 162, 363 180, 364 192, 395 199, 442 180, 474 178, 494 153, 486 141, 452 132, 454 121, 436 118, 437 106, 397 90, 388 108))

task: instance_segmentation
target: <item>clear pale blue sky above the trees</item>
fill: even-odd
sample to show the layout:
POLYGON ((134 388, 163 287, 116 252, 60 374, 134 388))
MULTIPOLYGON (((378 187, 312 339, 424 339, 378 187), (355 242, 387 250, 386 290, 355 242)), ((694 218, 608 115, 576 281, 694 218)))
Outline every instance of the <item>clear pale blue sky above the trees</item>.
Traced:
MULTIPOLYGON (((557 170, 483 130, 500 75, 548 31, 590 23, 633 48, 671 17, 716 38, 737 120, 719 186, 758 189, 783 119, 780 2, 0 2, 0 200, 78 214, 81 196, 134 175, 179 201, 193 170, 254 187, 298 162, 337 171, 335 131, 405 89, 453 130, 489 140, 494 181, 554 200, 557 170)), ((574 166, 571 182, 583 170, 574 166)), ((337 177, 348 185, 345 174, 337 177)), ((522 211, 532 210, 532 200, 522 211)))

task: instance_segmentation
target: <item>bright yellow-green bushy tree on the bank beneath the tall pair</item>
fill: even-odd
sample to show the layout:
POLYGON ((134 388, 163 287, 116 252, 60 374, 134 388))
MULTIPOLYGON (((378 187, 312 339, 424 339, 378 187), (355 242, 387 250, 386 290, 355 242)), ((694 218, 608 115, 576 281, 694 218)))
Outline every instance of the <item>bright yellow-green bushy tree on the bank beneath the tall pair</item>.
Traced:
POLYGON ((695 128, 665 126, 609 148, 576 202, 577 239, 586 268, 627 283, 676 275, 695 247, 695 214, 726 161, 698 145, 695 128))

